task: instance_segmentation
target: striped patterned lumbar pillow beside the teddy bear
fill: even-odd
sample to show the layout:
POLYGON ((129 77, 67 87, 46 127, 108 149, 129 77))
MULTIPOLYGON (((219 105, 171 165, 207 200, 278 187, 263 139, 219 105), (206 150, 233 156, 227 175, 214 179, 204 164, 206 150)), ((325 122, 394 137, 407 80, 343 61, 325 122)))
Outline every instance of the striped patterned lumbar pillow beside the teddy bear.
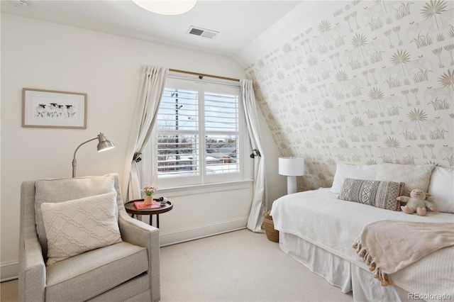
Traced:
POLYGON ((396 198, 401 196, 404 190, 404 182, 347 178, 343 182, 341 194, 338 198, 344 201, 354 201, 368 206, 399 211, 399 201, 396 198))

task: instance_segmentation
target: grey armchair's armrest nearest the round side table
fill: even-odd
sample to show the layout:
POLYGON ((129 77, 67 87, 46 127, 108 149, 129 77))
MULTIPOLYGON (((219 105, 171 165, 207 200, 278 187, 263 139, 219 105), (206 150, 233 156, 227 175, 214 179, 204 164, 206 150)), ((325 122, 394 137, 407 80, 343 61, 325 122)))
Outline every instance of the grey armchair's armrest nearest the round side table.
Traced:
POLYGON ((131 218, 126 211, 118 211, 118 225, 123 241, 147 248, 151 301, 159 301, 161 296, 159 229, 131 218))

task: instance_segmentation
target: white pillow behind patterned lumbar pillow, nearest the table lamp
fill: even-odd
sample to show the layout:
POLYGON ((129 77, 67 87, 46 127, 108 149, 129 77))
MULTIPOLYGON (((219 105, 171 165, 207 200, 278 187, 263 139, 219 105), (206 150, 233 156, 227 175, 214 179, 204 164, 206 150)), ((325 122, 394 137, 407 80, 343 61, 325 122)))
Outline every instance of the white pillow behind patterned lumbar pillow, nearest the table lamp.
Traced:
POLYGON ((355 164, 337 164, 331 193, 340 194, 346 178, 375 180, 378 164, 358 166, 355 164))

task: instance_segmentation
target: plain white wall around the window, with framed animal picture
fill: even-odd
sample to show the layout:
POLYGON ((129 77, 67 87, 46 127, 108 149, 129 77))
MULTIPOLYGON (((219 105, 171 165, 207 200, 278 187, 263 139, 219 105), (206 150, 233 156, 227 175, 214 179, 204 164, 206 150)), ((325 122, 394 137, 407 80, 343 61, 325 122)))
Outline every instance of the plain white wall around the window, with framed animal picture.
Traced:
MULTIPOLYGON (((118 172, 123 177, 140 69, 150 64, 245 78, 243 68, 228 57, 1 14, 2 280, 17 275, 22 181, 71 177, 75 148, 99 132, 106 133, 116 148, 97 153, 96 141, 81 147, 77 176, 118 172), (87 129, 22 128, 24 87, 87 93, 87 129)), ((273 184, 270 198, 277 198, 285 191, 277 175, 277 147, 266 124, 262 133, 270 163, 267 183, 273 184)), ((245 226, 250 184, 228 194, 216 190, 191 194, 190 198, 181 192, 169 194, 175 208, 160 217, 165 243, 245 226)))

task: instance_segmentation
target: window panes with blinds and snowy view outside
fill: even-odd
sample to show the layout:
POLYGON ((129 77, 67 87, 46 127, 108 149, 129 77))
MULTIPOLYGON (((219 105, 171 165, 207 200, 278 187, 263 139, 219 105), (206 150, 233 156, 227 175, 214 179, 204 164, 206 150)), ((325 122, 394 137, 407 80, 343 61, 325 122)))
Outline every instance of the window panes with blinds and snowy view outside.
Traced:
POLYGON ((157 176, 238 173, 238 119, 236 94, 166 87, 157 116, 157 176))

